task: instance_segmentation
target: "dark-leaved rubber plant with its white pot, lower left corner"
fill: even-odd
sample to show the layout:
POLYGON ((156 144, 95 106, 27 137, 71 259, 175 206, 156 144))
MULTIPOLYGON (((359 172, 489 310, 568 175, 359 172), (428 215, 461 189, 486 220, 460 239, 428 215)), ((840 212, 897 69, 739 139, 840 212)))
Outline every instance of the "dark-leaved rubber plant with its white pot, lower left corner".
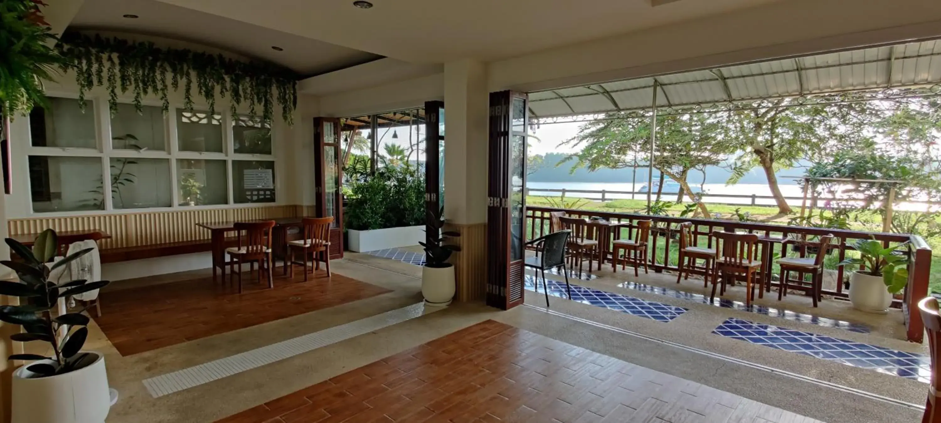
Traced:
MULTIPOLYGON (((60 298, 98 290, 107 281, 73 280, 55 283, 49 275, 90 248, 61 258, 54 263, 58 250, 56 231, 44 230, 32 250, 7 239, 10 250, 21 261, 3 260, 0 264, 16 272, 20 282, 0 281, 0 294, 19 297, 21 305, 0 306, 0 321, 19 324, 24 332, 10 339, 18 342, 45 342, 51 356, 20 353, 10 360, 32 361, 13 372, 13 423, 103 422, 111 399, 108 392, 104 355, 83 352, 90 319, 81 312, 53 316, 60 298)), ((35 350, 39 351, 39 350, 35 350)))

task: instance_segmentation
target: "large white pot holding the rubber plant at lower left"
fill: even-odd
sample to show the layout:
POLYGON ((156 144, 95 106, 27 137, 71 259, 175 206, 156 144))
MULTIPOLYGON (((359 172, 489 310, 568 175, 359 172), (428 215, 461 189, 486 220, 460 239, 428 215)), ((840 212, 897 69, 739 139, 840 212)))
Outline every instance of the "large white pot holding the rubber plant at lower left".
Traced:
MULTIPOLYGON (((104 423, 111 407, 104 355, 65 374, 33 378, 26 366, 13 372, 12 423, 104 423)), ((38 363, 52 363, 41 360, 38 363)))

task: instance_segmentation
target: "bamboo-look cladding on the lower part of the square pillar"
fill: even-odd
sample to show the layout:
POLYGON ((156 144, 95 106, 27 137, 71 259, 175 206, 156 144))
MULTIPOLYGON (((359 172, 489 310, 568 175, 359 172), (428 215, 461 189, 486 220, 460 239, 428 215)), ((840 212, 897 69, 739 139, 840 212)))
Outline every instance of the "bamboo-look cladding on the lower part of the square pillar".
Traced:
POLYGON ((460 237, 449 243, 461 246, 451 256, 455 265, 457 289, 455 301, 484 301, 486 296, 486 223, 474 225, 447 224, 447 230, 456 230, 460 237))

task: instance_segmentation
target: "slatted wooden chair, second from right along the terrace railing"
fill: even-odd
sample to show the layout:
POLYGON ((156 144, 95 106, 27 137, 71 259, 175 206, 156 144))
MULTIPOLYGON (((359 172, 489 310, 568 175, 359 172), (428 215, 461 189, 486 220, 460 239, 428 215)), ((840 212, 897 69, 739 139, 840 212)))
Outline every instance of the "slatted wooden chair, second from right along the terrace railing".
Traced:
MULTIPOLYGON (((712 267, 712 295, 715 298, 715 286, 722 274, 722 290, 719 295, 726 294, 726 280, 745 275, 745 305, 751 306, 755 299, 755 285, 753 279, 759 277, 761 261, 755 259, 758 251, 758 235, 754 233, 734 233, 716 230, 712 232, 715 237, 715 246, 718 258, 712 267)), ((760 279, 758 279, 760 281, 760 279)), ((758 290, 761 295, 762 290, 758 290)))

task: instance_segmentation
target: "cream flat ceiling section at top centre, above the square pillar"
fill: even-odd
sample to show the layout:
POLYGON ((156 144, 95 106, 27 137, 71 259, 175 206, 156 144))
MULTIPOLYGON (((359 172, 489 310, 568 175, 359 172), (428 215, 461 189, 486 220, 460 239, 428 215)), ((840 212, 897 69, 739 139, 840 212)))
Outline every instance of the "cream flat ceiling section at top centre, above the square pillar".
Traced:
POLYGON ((524 55, 784 0, 372 0, 369 9, 352 0, 160 1, 377 55, 442 63, 524 55))

